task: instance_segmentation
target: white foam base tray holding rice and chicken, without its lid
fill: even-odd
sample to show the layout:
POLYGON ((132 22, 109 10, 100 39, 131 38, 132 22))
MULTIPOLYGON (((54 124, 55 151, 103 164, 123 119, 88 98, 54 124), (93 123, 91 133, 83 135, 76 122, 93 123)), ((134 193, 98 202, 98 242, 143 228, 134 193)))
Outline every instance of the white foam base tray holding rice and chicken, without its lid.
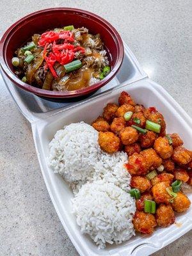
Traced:
MULTIPOLYGON (((178 132, 184 140, 185 147, 191 146, 191 118, 166 90, 149 79, 120 85, 118 88, 87 102, 71 106, 68 109, 61 109, 43 120, 32 123, 36 152, 49 195, 63 227, 81 256, 147 256, 172 243, 192 228, 191 207, 184 214, 177 214, 176 221, 179 225, 173 224, 167 228, 157 228, 152 236, 137 235, 125 243, 109 245, 104 250, 99 250, 88 236, 81 234, 80 228, 76 224, 76 217, 72 214, 72 191, 68 188, 65 180, 60 175, 54 174, 47 165, 49 141, 64 125, 80 121, 90 124, 102 113, 102 109, 108 102, 117 102, 118 95, 123 90, 129 92, 136 102, 145 107, 156 106, 164 115, 167 132, 178 132)), ((192 195, 188 194, 188 196, 192 200, 192 195)))

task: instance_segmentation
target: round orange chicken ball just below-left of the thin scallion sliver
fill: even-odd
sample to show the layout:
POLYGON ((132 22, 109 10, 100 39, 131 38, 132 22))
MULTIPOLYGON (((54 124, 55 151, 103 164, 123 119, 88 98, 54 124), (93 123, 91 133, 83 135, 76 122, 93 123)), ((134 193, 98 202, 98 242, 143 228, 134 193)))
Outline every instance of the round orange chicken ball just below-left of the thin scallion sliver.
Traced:
POLYGON ((131 145, 139 138, 138 131, 133 127, 125 127, 120 131, 120 139, 124 145, 131 145))

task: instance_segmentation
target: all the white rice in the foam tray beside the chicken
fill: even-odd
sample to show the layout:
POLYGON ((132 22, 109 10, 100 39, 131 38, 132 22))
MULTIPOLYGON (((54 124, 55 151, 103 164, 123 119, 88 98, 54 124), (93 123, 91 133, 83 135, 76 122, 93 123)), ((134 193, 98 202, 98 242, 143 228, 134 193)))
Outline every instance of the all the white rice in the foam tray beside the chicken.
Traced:
POLYGON ((127 154, 100 150, 98 134, 83 122, 65 126, 49 143, 49 166, 76 195, 73 205, 81 231, 104 248, 105 243, 122 243, 134 234, 135 204, 127 193, 127 154))

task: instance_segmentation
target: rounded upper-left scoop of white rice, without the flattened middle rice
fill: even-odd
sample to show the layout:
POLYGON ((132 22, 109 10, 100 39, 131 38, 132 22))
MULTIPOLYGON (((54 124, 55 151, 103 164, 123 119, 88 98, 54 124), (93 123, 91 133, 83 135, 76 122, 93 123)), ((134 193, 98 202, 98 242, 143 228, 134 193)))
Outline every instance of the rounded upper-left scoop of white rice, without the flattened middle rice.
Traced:
POLYGON ((49 166, 67 182, 92 176, 100 148, 98 132, 83 122, 70 124, 56 132, 49 143, 49 166))

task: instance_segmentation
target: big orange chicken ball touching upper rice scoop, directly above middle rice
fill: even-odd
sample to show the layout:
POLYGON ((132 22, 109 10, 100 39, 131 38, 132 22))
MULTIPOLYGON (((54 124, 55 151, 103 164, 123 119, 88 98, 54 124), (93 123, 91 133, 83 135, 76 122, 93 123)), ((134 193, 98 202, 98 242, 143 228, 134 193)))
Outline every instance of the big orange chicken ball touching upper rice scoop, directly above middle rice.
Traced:
POLYGON ((113 132, 99 132, 99 145, 105 152, 117 152, 120 144, 120 139, 113 132))

